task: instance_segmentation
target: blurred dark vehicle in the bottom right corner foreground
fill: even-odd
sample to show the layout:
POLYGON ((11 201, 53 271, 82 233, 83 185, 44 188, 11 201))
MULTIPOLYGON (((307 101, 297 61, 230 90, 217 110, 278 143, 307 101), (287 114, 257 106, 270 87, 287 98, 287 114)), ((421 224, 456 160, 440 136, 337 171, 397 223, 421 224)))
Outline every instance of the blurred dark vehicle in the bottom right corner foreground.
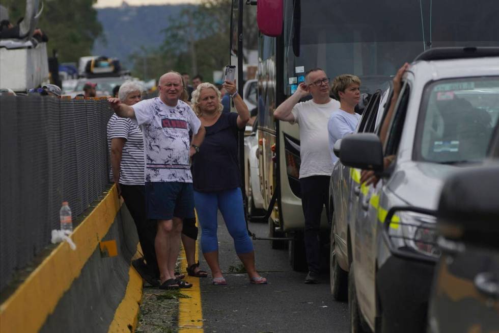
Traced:
POLYGON ((499 331, 499 126, 489 156, 443 185, 427 333, 499 331))

